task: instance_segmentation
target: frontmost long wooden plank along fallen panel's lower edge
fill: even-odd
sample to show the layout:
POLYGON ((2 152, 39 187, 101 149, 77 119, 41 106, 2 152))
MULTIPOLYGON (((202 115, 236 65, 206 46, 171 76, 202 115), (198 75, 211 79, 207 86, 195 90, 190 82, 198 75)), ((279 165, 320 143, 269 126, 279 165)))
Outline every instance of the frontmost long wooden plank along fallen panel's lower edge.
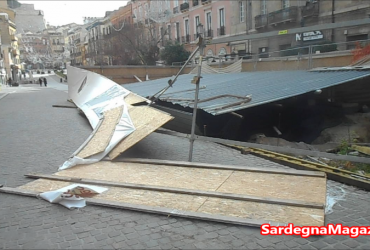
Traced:
MULTIPOLYGON (((37 197, 39 195, 39 192, 21 190, 21 189, 10 188, 10 187, 2 187, 0 188, 0 192, 29 196, 29 197, 37 197)), ((174 217, 180 217, 180 218, 186 218, 186 219, 206 220, 206 221, 214 221, 218 223, 230 223, 230 224, 242 225, 242 226, 260 227, 262 224, 265 224, 265 223, 268 223, 272 226, 286 225, 284 223, 275 223, 275 222, 266 221, 266 220, 254 220, 254 219, 237 218, 237 217, 231 217, 231 216, 212 215, 212 214, 206 214, 206 213, 181 211, 181 210, 170 209, 170 208, 158 208, 158 207, 130 204, 130 203, 124 203, 124 202, 114 202, 114 201, 107 201, 107 200, 94 199, 94 198, 86 198, 86 204, 125 209, 125 210, 137 211, 137 212, 161 214, 161 215, 174 216, 174 217)))

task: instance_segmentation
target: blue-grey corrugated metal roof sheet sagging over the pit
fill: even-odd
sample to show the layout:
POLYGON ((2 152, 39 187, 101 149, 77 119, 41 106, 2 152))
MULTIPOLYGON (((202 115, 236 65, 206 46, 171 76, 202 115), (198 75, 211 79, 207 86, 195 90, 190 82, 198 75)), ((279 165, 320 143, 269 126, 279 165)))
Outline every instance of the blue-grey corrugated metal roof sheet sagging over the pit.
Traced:
MULTIPOLYGON (((234 97, 224 97, 201 102, 198 108, 219 115, 261 104, 278 101, 324 89, 345 82, 370 76, 370 71, 265 71, 231 74, 204 74, 200 86, 199 99, 204 100, 220 95, 252 96, 252 100, 232 106, 241 101, 234 97), (224 108, 225 106, 229 106, 224 108)), ((194 75, 181 75, 172 88, 160 97, 162 101, 193 107, 195 85, 191 84, 194 75), (170 98, 170 99, 169 99, 170 98)), ((164 87, 171 78, 162 78, 141 83, 126 84, 125 88, 143 97, 152 96, 164 87)))

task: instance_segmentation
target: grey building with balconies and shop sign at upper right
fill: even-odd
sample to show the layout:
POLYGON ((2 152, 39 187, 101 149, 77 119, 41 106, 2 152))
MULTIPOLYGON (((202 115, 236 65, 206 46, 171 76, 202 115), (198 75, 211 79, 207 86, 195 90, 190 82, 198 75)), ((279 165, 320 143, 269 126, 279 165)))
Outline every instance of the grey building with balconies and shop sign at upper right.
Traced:
MULTIPOLYGON (((273 51, 329 43, 339 43, 335 45, 335 49, 345 50, 355 46, 355 43, 348 42, 369 38, 369 24, 333 29, 314 27, 319 24, 368 19, 370 3, 365 0, 245 0, 239 1, 239 7, 239 15, 232 18, 234 31, 231 32, 229 44, 231 47, 245 44, 247 52, 253 54, 265 53, 267 55, 273 51), (242 8, 244 11, 241 11, 242 8), (238 19, 240 22, 242 20, 245 22, 244 35, 267 32, 276 32, 276 35, 235 41, 232 38, 234 35, 243 34, 238 29, 240 26, 238 19), (291 29, 303 27, 312 27, 312 30, 289 32, 291 29)), ((233 13, 237 13, 236 8, 237 6, 234 6, 233 13)))

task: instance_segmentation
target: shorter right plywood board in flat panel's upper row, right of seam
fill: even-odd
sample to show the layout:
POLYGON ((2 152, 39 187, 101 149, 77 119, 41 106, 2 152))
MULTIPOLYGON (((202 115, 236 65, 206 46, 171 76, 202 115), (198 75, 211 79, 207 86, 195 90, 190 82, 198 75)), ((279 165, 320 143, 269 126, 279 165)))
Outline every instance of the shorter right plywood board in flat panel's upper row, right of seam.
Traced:
POLYGON ((217 191, 325 204, 326 179, 235 171, 217 191))

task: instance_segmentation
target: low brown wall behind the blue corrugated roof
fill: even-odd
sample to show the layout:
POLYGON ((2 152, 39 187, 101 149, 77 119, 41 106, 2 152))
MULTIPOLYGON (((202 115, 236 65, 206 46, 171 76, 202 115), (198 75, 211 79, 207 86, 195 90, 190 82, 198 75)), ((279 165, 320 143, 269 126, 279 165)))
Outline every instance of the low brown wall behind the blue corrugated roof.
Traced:
MULTIPOLYGON (((313 56, 313 67, 341 67, 351 64, 352 54, 349 52, 345 53, 326 53, 325 55, 314 55, 313 56)), ((218 63, 212 65, 213 67, 219 67, 218 63)), ((222 66, 226 66, 223 63, 222 66)), ((180 67, 170 66, 94 66, 94 67, 82 67, 83 69, 93 71, 98 74, 102 74, 118 84, 133 83, 137 82, 134 75, 139 77, 141 80, 146 79, 146 75, 149 76, 150 80, 155 80, 164 77, 171 77, 177 74, 180 67)), ((271 70, 307 70, 308 61, 307 58, 297 60, 296 57, 284 57, 279 59, 261 59, 261 61, 246 60, 243 62, 242 71, 271 71, 271 70)), ((186 67, 183 74, 187 74, 192 70, 192 67, 186 67)))

